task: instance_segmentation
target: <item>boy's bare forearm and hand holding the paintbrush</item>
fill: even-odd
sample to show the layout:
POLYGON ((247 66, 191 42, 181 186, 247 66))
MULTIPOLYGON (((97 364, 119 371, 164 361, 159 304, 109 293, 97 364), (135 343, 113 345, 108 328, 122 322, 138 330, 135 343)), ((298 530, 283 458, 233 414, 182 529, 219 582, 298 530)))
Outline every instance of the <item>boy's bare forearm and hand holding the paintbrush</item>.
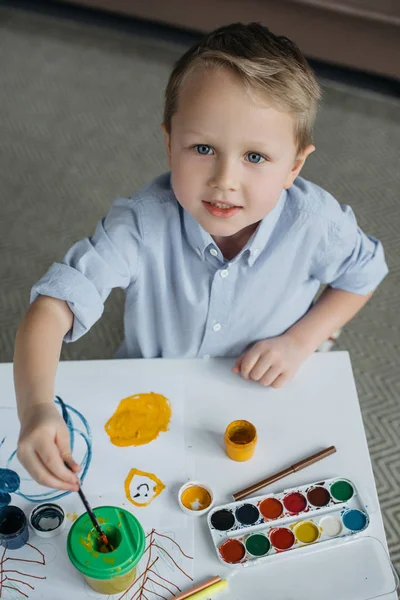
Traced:
POLYGON ((62 300, 39 296, 18 327, 14 384, 21 421, 18 458, 42 485, 77 489, 69 433, 54 404, 54 381, 65 334, 73 314, 62 300))

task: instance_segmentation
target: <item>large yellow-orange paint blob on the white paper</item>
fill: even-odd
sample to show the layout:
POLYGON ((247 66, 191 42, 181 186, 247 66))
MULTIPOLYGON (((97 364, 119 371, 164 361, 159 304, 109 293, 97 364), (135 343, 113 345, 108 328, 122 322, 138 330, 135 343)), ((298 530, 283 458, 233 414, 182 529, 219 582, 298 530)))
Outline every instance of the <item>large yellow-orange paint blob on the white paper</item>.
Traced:
POLYGON ((142 446, 167 431, 171 420, 169 401, 161 394, 135 394, 124 398, 105 424, 115 446, 142 446))

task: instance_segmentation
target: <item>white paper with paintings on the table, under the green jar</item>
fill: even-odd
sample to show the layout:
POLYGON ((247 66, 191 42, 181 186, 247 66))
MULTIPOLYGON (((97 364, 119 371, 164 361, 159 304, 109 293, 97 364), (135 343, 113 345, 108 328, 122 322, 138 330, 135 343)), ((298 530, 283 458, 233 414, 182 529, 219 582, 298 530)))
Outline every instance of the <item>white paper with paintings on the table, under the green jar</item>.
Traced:
MULTIPOLYGON (((101 363, 97 365, 100 366, 101 363)), ((149 534, 147 541, 153 543, 139 564, 138 576, 146 568, 150 551, 151 562, 157 559, 152 570, 146 572, 146 591, 142 597, 149 600, 159 598, 160 595, 171 598, 179 590, 191 586, 194 572, 193 521, 184 515, 177 503, 177 491, 187 481, 191 467, 185 452, 182 383, 176 378, 169 378, 166 372, 165 378, 155 385, 148 371, 139 377, 135 374, 135 381, 132 382, 126 369, 123 371, 125 376, 111 379, 103 376, 101 369, 96 370, 95 366, 96 363, 92 363, 86 373, 78 368, 74 381, 63 376, 61 369, 57 382, 59 396, 79 412, 76 414, 72 408, 68 409, 74 427, 74 458, 78 462, 82 461, 88 444, 91 447, 91 463, 82 489, 93 507, 121 506, 139 519, 145 532, 149 534), (104 429, 105 423, 123 398, 150 391, 166 396, 171 403, 169 430, 161 432, 156 440, 143 446, 114 446, 104 429), (124 482, 131 469, 154 474, 166 486, 147 507, 134 506, 125 495, 124 482)), ((107 598, 87 586, 67 556, 68 530, 77 514, 83 512, 79 496, 68 494, 57 498, 59 493, 43 488, 31 480, 15 455, 18 434, 15 400, 10 394, 3 394, 0 399, 0 468, 10 468, 21 477, 21 495, 13 493, 11 504, 20 506, 29 515, 37 505, 32 502, 34 497, 37 502, 55 501, 67 514, 67 528, 51 539, 39 538, 31 532, 29 545, 19 550, 5 550, 0 546, 0 598, 107 598)), ((143 481, 145 479, 142 477, 139 483, 143 481)), ((132 489, 133 492, 136 491, 136 488, 132 489)), ((142 489, 146 491, 145 488, 142 489)), ((140 597, 138 590, 143 580, 144 578, 128 593, 117 594, 113 598, 131 600, 140 597)))

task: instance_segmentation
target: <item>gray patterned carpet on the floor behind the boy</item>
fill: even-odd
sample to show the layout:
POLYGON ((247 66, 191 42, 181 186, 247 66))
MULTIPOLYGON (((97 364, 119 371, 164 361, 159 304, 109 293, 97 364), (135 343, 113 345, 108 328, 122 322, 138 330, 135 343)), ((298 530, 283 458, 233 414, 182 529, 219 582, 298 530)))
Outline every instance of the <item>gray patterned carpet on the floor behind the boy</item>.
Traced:
MULTIPOLYGON (((179 43, 0 8, 0 360, 11 361, 29 289, 93 231, 118 196, 167 169, 163 86, 179 43)), ((392 558, 400 567, 400 106, 324 83, 306 177, 351 204, 391 269, 349 324, 351 353, 392 558)), ((64 359, 111 357, 122 294, 64 359)))

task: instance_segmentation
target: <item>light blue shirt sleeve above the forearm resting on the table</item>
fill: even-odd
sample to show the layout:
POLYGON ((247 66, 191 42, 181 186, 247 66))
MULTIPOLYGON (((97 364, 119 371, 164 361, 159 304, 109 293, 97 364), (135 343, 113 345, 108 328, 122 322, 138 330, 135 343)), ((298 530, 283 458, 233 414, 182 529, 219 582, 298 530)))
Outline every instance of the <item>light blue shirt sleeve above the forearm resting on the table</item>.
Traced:
POLYGON ((366 295, 388 273, 382 244, 357 225, 349 206, 341 206, 338 222, 330 225, 314 276, 334 289, 366 295))

